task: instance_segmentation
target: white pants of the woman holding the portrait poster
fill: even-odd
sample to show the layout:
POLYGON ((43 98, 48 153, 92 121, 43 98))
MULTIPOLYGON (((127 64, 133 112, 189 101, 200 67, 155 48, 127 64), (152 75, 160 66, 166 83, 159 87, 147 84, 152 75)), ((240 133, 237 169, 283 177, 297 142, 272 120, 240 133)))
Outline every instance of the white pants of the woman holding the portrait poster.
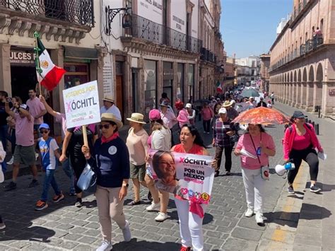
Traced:
MULTIPOLYGON (((175 204, 179 217, 182 245, 185 247, 193 247, 194 251, 204 250, 204 235, 202 233, 203 218, 189 211, 189 201, 175 199, 175 204)), ((205 212, 207 205, 201 204, 201 207, 205 212)))

